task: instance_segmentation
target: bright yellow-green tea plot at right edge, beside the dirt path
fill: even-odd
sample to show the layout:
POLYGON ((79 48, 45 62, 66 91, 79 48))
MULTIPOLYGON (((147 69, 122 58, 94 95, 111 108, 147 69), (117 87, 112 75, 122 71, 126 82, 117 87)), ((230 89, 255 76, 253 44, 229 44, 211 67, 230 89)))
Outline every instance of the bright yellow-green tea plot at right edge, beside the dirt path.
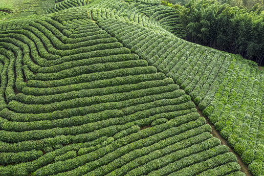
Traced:
POLYGON ((245 64, 227 72, 214 100, 204 110, 254 175, 263 169, 264 72, 245 64), (211 114, 210 114, 211 113, 211 114))

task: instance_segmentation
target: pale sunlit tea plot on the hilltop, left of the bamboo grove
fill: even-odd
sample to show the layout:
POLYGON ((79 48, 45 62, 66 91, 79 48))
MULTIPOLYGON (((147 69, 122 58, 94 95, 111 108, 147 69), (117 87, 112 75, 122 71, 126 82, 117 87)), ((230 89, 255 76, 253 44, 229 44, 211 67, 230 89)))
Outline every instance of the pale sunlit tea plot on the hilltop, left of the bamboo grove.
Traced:
MULTIPOLYGON (((144 2, 107 0, 101 2, 94 0, 88 7, 93 20, 100 18, 113 18, 127 22, 136 22, 143 26, 148 26, 157 30, 164 29, 174 33, 178 37, 184 38, 184 31, 181 27, 178 11, 164 5, 151 5, 144 2), (99 5, 98 5, 99 4, 99 5), (108 4, 108 5, 106 5, 108 4)), ((87 9, 83 7, 81 9, 87 9)))

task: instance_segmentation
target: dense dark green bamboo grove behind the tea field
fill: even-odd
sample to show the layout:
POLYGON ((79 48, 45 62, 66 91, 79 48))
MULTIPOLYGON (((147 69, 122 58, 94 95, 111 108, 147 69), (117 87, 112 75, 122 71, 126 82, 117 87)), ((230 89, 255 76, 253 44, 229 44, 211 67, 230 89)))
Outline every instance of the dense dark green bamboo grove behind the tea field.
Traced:
POLYGON ((264 66, 264 11, 260 4, 246 9, 217 0, 190 0, 180 13, 187 41, 241 54, 264 66))

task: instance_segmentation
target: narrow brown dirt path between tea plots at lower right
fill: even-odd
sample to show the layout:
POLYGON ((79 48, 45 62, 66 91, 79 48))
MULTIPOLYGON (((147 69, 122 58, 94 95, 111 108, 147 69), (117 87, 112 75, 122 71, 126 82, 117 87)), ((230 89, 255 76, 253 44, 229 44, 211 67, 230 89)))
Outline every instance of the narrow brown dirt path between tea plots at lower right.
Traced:
POLYGON ((222 136, 220 135, 220 133, 215 129, 215 126, 210 123, 209 119, 202 114, 202 111, 200 111, 197 106, 196 106, 196 109, 197 109, 197 112, 200 114, 200 116, 202 116, 203 118, 205 118, 206 123, 211 126, 211 128, 212 128, 212 132, 211 133, 213 134, 213 136, 219 138, 220 141, 221 141, 221 144, 226 145, 227 147, 229 147, 229 152, 232 152, 233 154, 235 154, 237 156, 238 163, 241 166, 241 171, 243 173, 245 173, 247 176, 253 176, 249 172, 247 165, 245 163, 243 163, 242 158, 240 157, 240 155, 238 155, 237 153, 235 153, 235 151, 233 150, 233 148, 231 148, 229 146, 229 144, 227 143, 227 140, 225 140, 224 138, 222 138, 222 136))

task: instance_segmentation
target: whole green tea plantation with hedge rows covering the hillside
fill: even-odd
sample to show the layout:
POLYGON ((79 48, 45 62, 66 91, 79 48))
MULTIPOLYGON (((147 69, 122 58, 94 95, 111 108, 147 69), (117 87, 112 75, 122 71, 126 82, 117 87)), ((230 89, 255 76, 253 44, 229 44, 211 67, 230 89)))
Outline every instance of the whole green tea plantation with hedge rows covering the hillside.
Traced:
POLYGON ((159 0, 45 1, 0 22, 0 176, 245 176, 196 108, 264 175, 256 63, 180 39, 159 0))

